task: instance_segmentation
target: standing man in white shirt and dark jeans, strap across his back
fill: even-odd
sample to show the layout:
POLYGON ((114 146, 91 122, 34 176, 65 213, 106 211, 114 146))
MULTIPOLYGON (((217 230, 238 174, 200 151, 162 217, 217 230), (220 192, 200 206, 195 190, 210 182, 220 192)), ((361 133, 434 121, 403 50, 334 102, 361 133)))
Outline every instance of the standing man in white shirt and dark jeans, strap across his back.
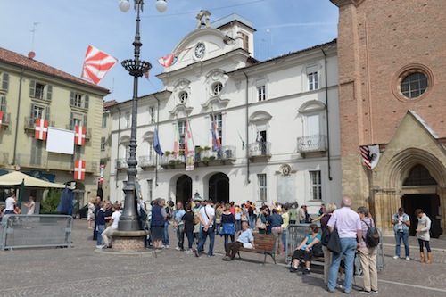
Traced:
POLYGON ((215 210, 212 207, 211 201, 205 201, 205 205, 200 209, 200 223, 202 224, 202 234, 200 237, 200 243, 198 243, 198 247, 195 250, 195 256, 200 257, 200 253, 204 250, 204 242, 206 241, 206 237, 209 236, 209 252, 208 257, 213 257, 214 250, 214 241, 215 241, 215 232, 214 232, 214 217, 215 210))

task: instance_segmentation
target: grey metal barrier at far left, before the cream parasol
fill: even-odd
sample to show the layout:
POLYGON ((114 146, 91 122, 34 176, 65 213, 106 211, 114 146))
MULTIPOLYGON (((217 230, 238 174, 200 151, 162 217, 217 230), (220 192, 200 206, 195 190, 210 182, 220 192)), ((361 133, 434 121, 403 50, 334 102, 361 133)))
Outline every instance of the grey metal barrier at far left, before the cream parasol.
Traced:
POLYGON ((71 247, 73 218, 65 215, 4 215, 0 248, 71 247))

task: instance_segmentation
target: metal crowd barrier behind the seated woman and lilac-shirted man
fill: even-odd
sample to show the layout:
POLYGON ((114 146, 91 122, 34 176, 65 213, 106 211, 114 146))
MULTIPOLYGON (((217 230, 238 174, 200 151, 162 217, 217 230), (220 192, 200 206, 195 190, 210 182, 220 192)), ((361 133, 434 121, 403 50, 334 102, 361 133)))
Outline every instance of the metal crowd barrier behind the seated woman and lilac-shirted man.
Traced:
MULTIPOLYGON (((303 238, 309 234, 310 224, 297 224, 297 225, 289 225, 286 230, 286 245, 285 245, 285 261, 286 263, 291 262, 291 256, 289 255, 294 249, 301 243, 303 238)), ((379 244, 376 246, 376 269, 378 272, 383 271, 385 268, 384 263, 384 238, 381 229, 376 228, 379 232, 379 244)), ((319 227, 319 234, 322 231, 319 227)), ((355 274, 360 276, 362 275, 362 268, 360 268, 359 257, 355 257, 356 270, 355 274)))

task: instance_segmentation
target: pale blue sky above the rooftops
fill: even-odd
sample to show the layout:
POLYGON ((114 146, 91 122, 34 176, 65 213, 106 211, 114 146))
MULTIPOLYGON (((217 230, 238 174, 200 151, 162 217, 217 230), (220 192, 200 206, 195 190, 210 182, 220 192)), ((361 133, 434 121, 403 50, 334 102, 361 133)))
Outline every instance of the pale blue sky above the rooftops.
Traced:
MULTIPOLYGON (((119 0, 0 0, 0 47, 28 55, 80 77, 88 45, 120 62, 133 59, 136 12, 120 12, 119 0)), ((167 0, 164 13, 155 0, 145 0, 141 14, 141 59, 151 62, 150 81, 140 78, 138 95, 163 89, 155 77, 163 68, 157 59, 196 28, 200 10, 210 21, 237 13, 252 21, 254 57, 260 61, 324 44, 337 37, 338 9, 329 0, 167 0)), ((129 100, 133 78, 116 63, 98 86, 110 90, 105 100, 129 100)))

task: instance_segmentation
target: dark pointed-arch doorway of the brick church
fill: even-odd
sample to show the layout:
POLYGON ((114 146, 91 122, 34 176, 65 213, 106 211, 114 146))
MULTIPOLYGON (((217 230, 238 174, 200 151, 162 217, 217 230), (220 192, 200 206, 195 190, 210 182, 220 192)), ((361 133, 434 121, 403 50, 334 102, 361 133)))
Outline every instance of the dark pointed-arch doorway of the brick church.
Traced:
POLYGON ((438 184, 429 170, 421 164, 410 169, 409 177, 403 183, 404 195, 401 197, 401 204, 410 216, 409 235, 416 235, 417 217, 415 210, 421 209, 432 220, 431 235, 438 238, 442 235, 442 225, 440 218, 440 196, 437 194, 438 184))

